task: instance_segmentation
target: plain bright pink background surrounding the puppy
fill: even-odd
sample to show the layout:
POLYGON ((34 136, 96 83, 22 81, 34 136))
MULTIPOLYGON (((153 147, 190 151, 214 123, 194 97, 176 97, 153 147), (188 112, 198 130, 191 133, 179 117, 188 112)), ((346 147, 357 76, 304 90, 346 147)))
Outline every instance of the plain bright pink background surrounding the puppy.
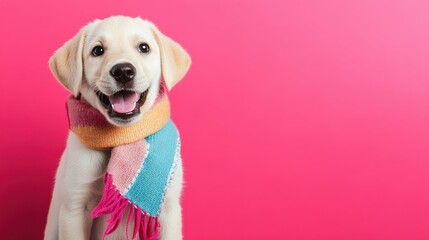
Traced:
POLYGON ((1 239, 41 239, 68 93, 47 61, 140 15, 191 54, 173 90, 187 240, 429 239, 429 1, 1 1, 1 239))

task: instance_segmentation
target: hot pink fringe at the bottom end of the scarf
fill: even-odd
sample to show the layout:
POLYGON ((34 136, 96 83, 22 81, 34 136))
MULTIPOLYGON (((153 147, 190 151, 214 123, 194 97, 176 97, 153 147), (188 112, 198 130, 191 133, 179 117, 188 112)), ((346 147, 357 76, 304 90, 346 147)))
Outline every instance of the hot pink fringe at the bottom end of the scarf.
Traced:
POLYGON ((119 227, 128 206, 130 211, 128 213, 126 223, 127 240, 130 240, 128 230, 133 217, 135 222, 131 239, 134 240, 138 233, 140 240, 156 240, 159 237, 160 230, 158 218, 143 212, 138 206, 130 203, 127 198, 122 196, 118 189, 113 185, 113 178, 109 173, 106 173, 104 176, 103 196, 101 197, 97 207, 95 207, 91 213, 93 218, 110 214, 109 219, 106 221, 107 228, 104 231, 103 239, 119 227))

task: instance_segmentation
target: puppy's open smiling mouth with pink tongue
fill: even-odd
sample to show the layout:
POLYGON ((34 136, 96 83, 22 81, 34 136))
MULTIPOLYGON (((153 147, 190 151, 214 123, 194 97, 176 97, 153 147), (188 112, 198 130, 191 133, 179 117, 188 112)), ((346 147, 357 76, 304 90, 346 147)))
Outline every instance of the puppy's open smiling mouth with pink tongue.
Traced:
POLYGON ((140 107, 146 101, 148 90, 143 93, 122 90, 112 96, 104 95, 97 91, 97 97, 101 104, 108 110, 109 117, 130 119, 140 113, 140 107))

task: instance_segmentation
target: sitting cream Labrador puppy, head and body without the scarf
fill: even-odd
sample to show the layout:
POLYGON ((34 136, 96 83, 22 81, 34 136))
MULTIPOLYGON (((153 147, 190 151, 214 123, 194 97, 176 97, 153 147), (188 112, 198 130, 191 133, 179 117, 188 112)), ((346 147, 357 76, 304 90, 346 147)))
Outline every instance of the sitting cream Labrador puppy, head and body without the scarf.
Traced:
MULTIPOLYGON (((109 123, 120 127, 141 120, 155 103, 161 79, 170 90, 186 74, 190 64, 188 53, 154 24, 124 16, 89 23, 49 61, 53 74, 62 85, 97 109, 109 123), (125 72, 129 79, 117 78, 118 71, 125 72), (115 111, 109 111, 106 99, 125 90, 140 97, 145 95, 145 100, 138 101, 131 113, 112 114, 115 111), (140 111, 136 111, 137 108, 140 111)), ((106 217, 93 220, 90 214, 100 201, 109 157, 109 151, 85 147, 70 131, 56 173, 46 240, 103 238, 106 217)), ((179 202, 182 179, 182 161, 179 159, 160 211, 160 239, 182 239, 179 202)), ((119 228, 106 239, 126 239, 126 220, 122 219, 119 228)))

